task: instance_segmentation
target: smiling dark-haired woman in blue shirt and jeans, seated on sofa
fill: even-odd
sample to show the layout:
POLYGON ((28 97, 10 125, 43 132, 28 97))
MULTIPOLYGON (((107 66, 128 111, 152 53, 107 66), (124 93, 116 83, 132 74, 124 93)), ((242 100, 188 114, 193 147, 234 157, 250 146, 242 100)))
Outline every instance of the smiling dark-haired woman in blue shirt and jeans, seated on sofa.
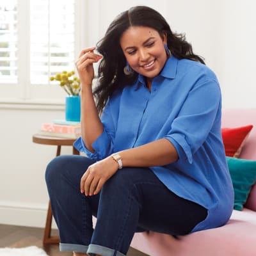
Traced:
POLYGON ((76 62, 74 145, 88 157, 60 156, 46 171, 60 250, 125 255, 134 232, 177 236, 227 223, 234 195, 214 73, 145 6, 116 17, 97 51, 84 49, 76 62))

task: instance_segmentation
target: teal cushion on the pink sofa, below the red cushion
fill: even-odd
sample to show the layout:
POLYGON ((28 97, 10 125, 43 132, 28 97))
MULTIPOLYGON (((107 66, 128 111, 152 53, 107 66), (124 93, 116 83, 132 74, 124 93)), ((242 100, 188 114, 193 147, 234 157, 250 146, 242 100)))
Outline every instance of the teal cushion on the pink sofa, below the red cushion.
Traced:
POLYGON ((256 161, 235 157, 226 157, 226 159, 235 193, 234 209, 242 211, 256 182, 256 161))

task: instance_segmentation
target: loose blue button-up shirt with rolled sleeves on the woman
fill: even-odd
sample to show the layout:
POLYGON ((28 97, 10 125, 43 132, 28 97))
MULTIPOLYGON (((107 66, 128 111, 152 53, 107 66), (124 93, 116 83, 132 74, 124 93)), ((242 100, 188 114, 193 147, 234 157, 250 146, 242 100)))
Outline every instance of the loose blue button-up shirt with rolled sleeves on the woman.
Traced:
POLYGON ((209 68, 171 56, 154 77, 151 92, 139 75, 134 84, 111 95, 101 120, 104 131, 93 142, 95 152, 81 138, 74 143, 78 150, 98 161, 166 138, 179 160, 150 169, 173 193, 208 210, 207 218, 192 232, 228 221, 234 192, 221 138, 220 86, 209 68))

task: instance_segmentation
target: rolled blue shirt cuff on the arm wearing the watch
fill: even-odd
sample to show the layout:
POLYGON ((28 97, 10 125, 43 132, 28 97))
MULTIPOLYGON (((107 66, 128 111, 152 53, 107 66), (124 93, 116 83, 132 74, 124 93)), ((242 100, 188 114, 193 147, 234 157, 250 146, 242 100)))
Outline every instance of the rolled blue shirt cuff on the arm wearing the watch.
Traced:
POLYGON ((177 150, 179 155, 178 161, 187 160, 189 164, 193 162, 191 148, 189 147, 185 138, 180 134, 172 134, 168 136, 164 136, 170 143, 172 143, 173 147, 177 150))

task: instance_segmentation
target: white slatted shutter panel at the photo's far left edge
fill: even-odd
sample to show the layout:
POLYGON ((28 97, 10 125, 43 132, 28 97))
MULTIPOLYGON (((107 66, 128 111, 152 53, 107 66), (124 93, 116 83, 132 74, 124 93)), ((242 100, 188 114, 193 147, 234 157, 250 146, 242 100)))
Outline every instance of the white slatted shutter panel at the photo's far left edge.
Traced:
POLYGON ((0 2, 0 80, 17 83, 17 0, 0 2))

